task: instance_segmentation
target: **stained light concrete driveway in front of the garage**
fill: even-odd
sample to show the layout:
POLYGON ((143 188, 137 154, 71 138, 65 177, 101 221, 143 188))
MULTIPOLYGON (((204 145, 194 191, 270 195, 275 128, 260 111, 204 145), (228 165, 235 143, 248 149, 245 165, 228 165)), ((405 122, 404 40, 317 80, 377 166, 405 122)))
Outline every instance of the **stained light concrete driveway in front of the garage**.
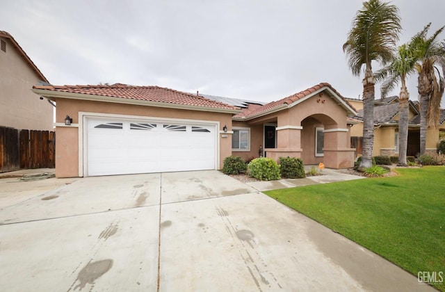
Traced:
POLYGON ((218 171, 0 179, 3 291, 434 291, 218 171))

